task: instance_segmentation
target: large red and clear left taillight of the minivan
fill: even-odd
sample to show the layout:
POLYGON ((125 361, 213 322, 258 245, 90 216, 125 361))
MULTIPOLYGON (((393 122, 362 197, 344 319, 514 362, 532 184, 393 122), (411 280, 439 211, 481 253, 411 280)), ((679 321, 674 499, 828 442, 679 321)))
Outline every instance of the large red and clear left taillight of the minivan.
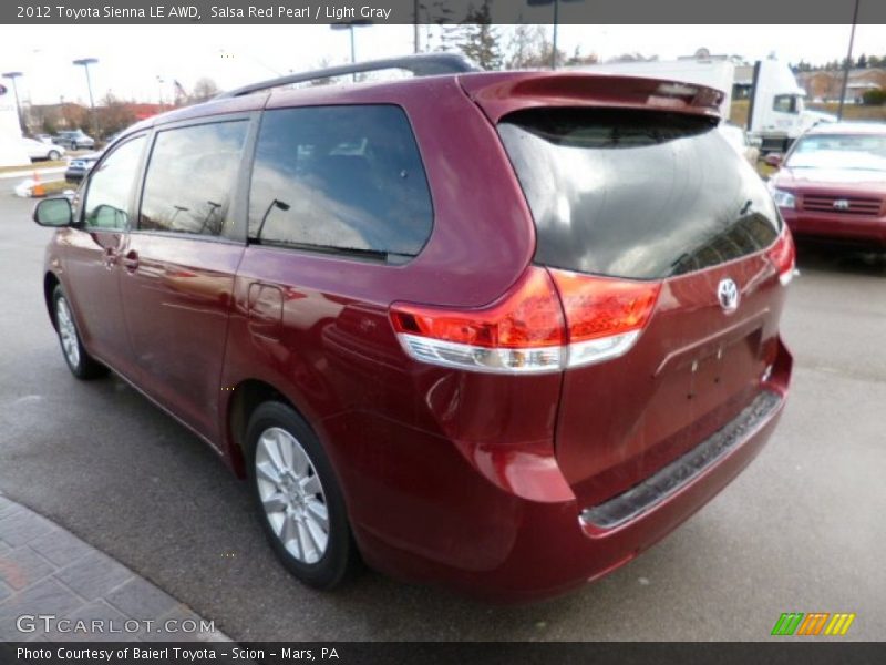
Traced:
POLYGON ((395 303, 391 321, 416 360, 503 374, 558 371, 630 349, 659 288, 530 266, 488 307, 395 303))

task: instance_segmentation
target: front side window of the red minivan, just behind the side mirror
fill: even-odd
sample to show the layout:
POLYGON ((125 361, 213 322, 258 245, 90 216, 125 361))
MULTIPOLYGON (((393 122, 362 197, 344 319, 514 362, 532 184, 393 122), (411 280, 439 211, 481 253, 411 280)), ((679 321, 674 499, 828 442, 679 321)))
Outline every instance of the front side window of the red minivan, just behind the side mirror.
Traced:
POLYGON ((107 155, 92 173, 83 207, 86 226, 112 229, 126 227, 130 197, 144 144, 144 136, 127 141, 107 155))

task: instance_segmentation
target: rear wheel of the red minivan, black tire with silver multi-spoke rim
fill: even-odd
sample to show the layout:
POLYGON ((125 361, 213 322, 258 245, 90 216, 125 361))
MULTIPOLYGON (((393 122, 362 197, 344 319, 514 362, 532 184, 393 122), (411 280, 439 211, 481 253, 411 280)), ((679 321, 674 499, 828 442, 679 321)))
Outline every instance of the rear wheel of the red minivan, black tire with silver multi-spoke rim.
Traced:
POLYGON ((246 444, 259 520, 284 566, 320 590, 352 577, 360 555, 344 499, 308 423, 287 405, 265 402, 249 419, 246 444))

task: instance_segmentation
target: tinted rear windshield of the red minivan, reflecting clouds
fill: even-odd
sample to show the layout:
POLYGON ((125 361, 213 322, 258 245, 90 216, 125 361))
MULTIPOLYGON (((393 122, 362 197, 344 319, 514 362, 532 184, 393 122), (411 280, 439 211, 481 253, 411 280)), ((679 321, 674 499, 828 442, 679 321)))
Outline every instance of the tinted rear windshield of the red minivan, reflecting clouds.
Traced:
POLYGON ((781 222, 760 177, 709 117, 529 109, 498 133, 537 227, 537 263, 660 279, 771 245, 781 222))

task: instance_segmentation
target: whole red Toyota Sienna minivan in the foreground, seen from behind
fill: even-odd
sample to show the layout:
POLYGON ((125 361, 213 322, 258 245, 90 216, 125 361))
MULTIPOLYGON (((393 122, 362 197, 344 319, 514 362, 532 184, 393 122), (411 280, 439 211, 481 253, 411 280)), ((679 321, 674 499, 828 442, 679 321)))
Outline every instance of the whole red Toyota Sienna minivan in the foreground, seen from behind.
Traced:
POLYGON ((73 211, 35 208, 50 318, 75 377, 113 369, 248 478, 307 584, 362 556, 555 594, 763 447, 791 235, 713 90, 391 62, 440 75, 267 90, 334 68, 127 130, 73 211))

